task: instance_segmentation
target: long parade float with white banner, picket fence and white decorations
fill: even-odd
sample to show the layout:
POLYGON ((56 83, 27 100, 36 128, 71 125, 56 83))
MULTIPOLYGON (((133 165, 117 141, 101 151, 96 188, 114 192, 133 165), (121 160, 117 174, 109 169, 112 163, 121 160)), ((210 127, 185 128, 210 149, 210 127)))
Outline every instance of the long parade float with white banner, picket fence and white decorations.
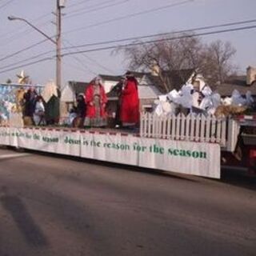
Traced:
MULTIPOLYGON (((9 114, 10 120, 12 115, 22 116, 18 99, 22 98, 20 94, 26 86, 26 83, 1 86, 4 91, 3 105, 6 106, 6 102, 13 104, 6 110, 6 117, 9 114), (9 95, 7 91, 11 92, 12 97, 6 97, 9 95)), ((206 106, 194 110, 191 104, 187 106, 188 102, 193 101, 192 98, 184 98, 189 95, 186 94, 188 86, 185 85, 183 92, 163 95, 164 100, 160 98, 156 102, 154 113, 141 113, 138 133, 108 128, 22 126, 22 122, 16 120, 2 124, 0 144, 153 170, 220 178, 221 160, 227 159, 226 153, 237 151, 239 142, 240 151, 246 152, 247 157, 237 158, 241 158, 242 165, 253 170, 256 157, 256 115, 245 115, 242 106, 232 108, 232 104, 229 105, 230 112, 224 107, 227 112, 219 110, 221 114, 214 115, 225 104, 217 106, 218 97, 209 94, 209 90, 204 102, 206 106), (184 108, 190 114, 184 114, 184 108)), ((42 86, 37 88, 42 89, 42 86)), ((233 102, 238 96, 235 92, 233 102)))

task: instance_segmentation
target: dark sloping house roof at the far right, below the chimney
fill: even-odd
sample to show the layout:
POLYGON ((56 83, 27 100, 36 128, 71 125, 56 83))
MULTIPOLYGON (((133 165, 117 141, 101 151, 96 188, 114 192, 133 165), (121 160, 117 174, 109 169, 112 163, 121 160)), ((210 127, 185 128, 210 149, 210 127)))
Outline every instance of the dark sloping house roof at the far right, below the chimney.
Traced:
POLYGON ((253 82, 250 86, 246 85, 246 76, 232 76, 226 80, 226 82, 216 86, 214 88, 222 97, 231 96, 234 90, 238 90, 240 94, 245 95, 248 90, 252 95, 256 96, 256 82, 253 82))

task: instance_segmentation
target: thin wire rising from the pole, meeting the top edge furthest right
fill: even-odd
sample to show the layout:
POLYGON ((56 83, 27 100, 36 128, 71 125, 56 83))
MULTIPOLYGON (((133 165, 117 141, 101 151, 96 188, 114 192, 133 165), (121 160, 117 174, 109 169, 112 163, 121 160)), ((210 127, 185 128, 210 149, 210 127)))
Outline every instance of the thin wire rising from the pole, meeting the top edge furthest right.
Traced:
POLYGON ((143 15, 143 14, 150 14, 150 13, 153 13, 153 12, 156 12, 156 11, 159 11, 159 10, 165 10, 167 8, 174 7, 174 6, 182 6, 186 3, 194 2, 194 1, 195 0, 186 0, 186 1, 182 1, 182 2, 176 2, 176 3, 166 5, 166 6, 161 6, 161 7, 153 8, 153 9, 150 9, 150 10, 140 11, 140 12, 134 13, 134 14, 127 14, 127 15, 124 15, 124 16, 120 16, 118 18, 111 18, 111 19, 108 19, 108 20, 103 21, 103 22, 98 22, 98 23, 91 24, 89 26, 82 26, 82 27, 79 27, 78 29, 68 30, 68 31, 64 32, 63 34, 70 34, 70 33, 78 32, 80 30, 86 30, 86 29, 91 28, 91 27, 106 25, 108 23, 117 22, 117 21, 120 21, 120 20, 125 19, 125 18, 132 18, 132 17, 136 17, 136 16, 139 16, 139 15, 143 15))

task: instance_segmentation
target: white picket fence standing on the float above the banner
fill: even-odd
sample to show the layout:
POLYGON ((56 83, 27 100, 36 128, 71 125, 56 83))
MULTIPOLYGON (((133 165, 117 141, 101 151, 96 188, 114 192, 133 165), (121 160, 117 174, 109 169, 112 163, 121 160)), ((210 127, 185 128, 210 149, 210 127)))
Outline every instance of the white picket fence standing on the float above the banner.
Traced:
POLYGON ((140 136, 146 138, 165 138, 192 142, 213 142, 226 146, 227 119, 203 114, 178 114, 177 116, 158 116, 142 113, 140 136))

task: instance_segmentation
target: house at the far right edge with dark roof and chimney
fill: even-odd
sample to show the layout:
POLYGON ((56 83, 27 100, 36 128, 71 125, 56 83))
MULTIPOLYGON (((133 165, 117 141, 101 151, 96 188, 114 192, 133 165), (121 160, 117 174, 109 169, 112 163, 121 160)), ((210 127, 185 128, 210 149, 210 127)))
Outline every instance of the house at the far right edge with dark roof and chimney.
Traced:
POLYGON ((231 76, 214 89, 222 98, 230 97, 234 90, 238 90, 242 95, 246 95, 250 90, 256 100, 256 68, 249 66, 246 75, 231 76))

